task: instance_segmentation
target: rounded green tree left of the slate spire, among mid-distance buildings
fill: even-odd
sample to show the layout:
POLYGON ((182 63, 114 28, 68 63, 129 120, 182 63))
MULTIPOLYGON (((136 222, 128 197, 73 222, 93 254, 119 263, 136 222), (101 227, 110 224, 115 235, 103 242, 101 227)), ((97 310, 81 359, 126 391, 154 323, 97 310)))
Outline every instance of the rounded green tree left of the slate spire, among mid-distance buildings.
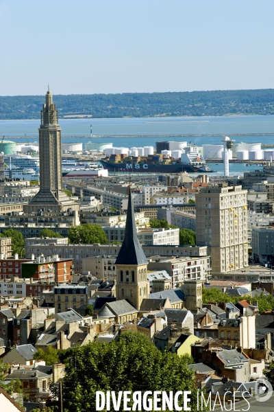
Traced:
POLYGON ((101 226, 84 223, 84 225, 72 226, 69 229, 69 242, 76 244, 108 244, 108 238, 101 226))

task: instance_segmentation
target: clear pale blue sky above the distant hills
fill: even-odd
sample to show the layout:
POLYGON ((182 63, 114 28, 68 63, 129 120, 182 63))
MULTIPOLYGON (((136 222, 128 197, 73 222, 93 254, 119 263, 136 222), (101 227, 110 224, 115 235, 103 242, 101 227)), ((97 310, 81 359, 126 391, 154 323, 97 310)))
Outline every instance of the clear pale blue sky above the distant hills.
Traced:
POLYGON ((0 0, 0 95, 274 88, 273 0, 0 0))

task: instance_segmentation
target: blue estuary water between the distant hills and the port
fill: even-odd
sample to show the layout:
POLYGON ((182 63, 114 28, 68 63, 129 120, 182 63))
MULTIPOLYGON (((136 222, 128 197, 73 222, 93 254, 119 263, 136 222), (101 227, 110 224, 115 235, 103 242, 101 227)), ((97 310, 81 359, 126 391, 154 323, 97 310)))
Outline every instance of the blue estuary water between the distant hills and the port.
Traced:
MULTIPOLYGON (((274 144, 274 136, 256 136, 256 133, 274 133, 274 115, 271 116, 216 116, 216 117, 140 117, 128 119, 60 119, 62 128, 62 141, 77 141, 86 143, 110 142, 113 146, 154 146, 155 141, 166 140, 164 135, 171 135, 169 140, 186 141, 184 137, 172 137, 172 135, 197 135, 197 134, 221 134, 251 133, 253 136, 233 137, 236 142, 248 142, 262 144, 274 144), (90 137, 90 124, 92 134, 100 138, 90 137), (66 135, 86 135, 84 139, 66 138, 66 135), (123 135, 155 135, 155 137, 121 137, 123 135), (160 136, 163 137, 160 137, 160 136), (115 137, 119 136, 119 137, 115 137)), ((0 136, 12 136, 26 134, 29 141, 37 141, 39 120, 0 120, 0 136)), ((189 140, 197 146, 203 144, 221 144, 221 137, 190 137, 189 140)), ((16 139, 20 142, 21 139, 16 139)), ((25 139, 22 139, 25 141, 25 139)), ((222 174, 223 165, 210 163, 216 174, 222 174)), ((247 167, 242 163, 231 163, 231 174, 243 174, 247 170, 260 169, 253 165, 247 167)))

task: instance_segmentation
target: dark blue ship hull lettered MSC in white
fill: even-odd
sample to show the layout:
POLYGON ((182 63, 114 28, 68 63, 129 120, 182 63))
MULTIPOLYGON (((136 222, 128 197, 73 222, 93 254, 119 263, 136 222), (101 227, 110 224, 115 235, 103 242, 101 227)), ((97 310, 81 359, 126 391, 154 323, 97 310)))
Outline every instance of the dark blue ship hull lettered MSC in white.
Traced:
POLYGON ((185 165, 183 163, 130 163, 123 161, 115 163, 112 161, 101 160, 101 164, 110 172, 136 172, 136 173, 195 173, 199 172, 201 166, 185 165))

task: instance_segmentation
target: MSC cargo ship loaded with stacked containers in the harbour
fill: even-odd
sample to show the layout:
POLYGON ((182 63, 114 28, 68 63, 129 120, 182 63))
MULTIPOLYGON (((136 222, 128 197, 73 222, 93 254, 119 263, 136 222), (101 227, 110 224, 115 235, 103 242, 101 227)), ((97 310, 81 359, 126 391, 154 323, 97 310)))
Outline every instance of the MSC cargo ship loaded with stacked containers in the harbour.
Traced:
POLYGON ((170 155, 149 155, 147 157, 128 156, 128 155, 110 155, 101 159, 101 164, 109 172, 136 172, 136 173, 210 173, 206 161, 197 152, 195 146, 185 148, 180 159, 175 159, 170 155))

